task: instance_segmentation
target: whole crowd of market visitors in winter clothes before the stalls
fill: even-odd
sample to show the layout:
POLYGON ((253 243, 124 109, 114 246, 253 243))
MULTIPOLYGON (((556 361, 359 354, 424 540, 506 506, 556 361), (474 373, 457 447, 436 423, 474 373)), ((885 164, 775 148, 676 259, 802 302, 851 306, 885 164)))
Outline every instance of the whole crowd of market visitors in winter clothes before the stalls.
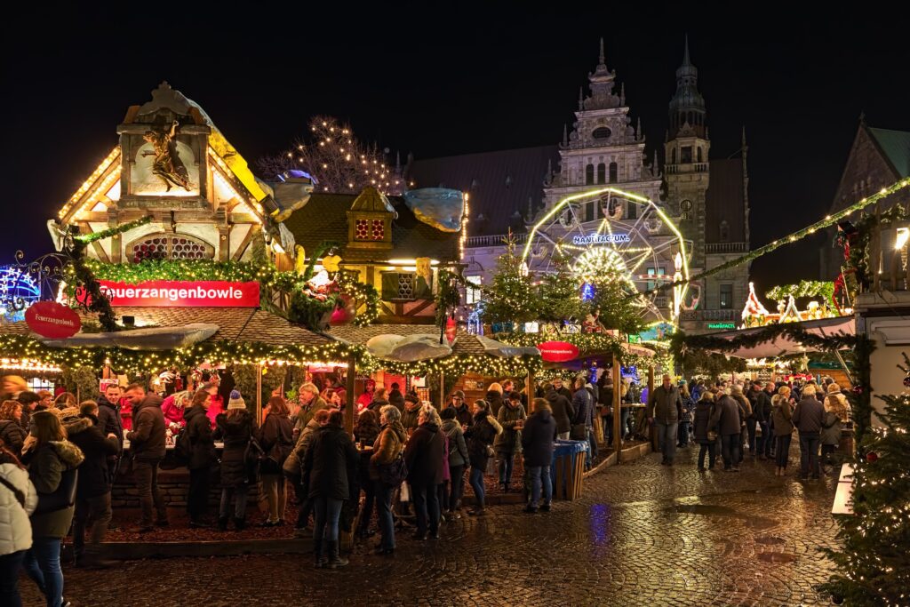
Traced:
MULTIPOLYGON (((306 382, 291 401, 275 394, 259 424, 237 390, 225 406, 217 384, 164 399, 139 384, 126 389, 109 384, 98 400, 81 403, 72 394, 55 398, 23 384, 5 378, 0 400, 4 605, 21 604, 17 584, 23 571, 47 605, 67 604, 60 567, 67 535, 77 566, 110 564, 102 542, 112 518, 113 482, 126 471, 127 460, 141 505, 136 527, 127 531, 169 526, 157 482, 168 442, 189 470, 190 527, 227 531, 232 523, 237 531, 246 529, 248 499, 257 486, 268 504, 268 515, 258 524, 284 525, 289 486, 298 505, 294 534, 311 535, 315 565, 335 569, 348 564, 339 550, 339 528, 368 538, 376 533, 374 515, 376 554, 393 555, 396 528, 411 519, 415 540, 438 540, 440 524, 461 516, 466 481, 473 493, 467 514, 484 516, 486 474, 497 476, 503 492, 523 491, 529 514, 549 511, 554 441, 587 441, 590 466, 597 453, 596 416, 602 418, 604 438, 612 438, 607 430, 612 430, 614 387, 603 377, 594 385, 575 378, 571 389, 557 377, 542 382, 531 398, 507 380, 491 384, 486 398, 470 407, 457 390, 441 410, 414 392, 402 393, 397 384, 389 391, 372 384, 357 401, 353 436, 343 429, 340 386, 319 389, 306 382), (514 476, 518 458, 521 479, 514 476), (216 466, 221 499, 212 525, 208 493, 216 466)), ((629 393, 639 397, 626 383, 618 389, 622 402, 629 393)), ((662 384, 641 398, 642 426, 646 420, 655 429, 662 464, 672 466, 676 451, 694 443, 703 472, 715 470, 718 459, 723 470, 738 471, 748 450, 759 460, 774 460, 775 473, 783 475, 796 432, 800 477, 818 478, 830 470, 842 429, 851 423, 847 400, 830 380, 822 386, 814 381, 674 384, 664 375, 662 384)), ((623 407, 623 418, 626 412, 623 407)), ((624 419, 621 427, 623 433, 630 430, 624 419)))

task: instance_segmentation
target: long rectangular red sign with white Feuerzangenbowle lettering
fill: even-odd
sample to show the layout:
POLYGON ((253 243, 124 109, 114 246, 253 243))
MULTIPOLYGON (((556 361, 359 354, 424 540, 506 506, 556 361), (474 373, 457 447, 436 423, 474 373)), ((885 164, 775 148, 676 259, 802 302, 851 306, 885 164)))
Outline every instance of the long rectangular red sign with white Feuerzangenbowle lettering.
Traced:
POLYGON ((99 280, 112 306, 258 308, 258 282, 152 280, 129 285, 99 280))

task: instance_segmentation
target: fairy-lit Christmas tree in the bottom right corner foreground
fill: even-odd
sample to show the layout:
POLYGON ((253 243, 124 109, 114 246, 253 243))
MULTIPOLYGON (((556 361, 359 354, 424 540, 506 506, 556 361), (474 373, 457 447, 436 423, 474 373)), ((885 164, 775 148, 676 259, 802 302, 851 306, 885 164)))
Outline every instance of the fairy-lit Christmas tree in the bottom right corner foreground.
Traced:
POLYGON ((854 463, 854 513, 838 521, 844 549, 825 550, 838 571, 823 590, 849 605, 910 604, 910 394, 878 398, 884 428, 868 430, 854 463))

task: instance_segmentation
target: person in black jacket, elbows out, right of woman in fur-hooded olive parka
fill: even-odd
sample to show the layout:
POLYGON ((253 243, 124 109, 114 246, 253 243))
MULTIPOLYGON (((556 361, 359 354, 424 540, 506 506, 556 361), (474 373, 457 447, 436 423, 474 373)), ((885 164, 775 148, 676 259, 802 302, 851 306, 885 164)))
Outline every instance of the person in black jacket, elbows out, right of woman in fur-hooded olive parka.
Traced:
POLYGON ((101 560, 101 542, 105 541, 107 525, 111 521, 111 483, 107 458, 120 450, 120 442, 113 432, 107 436, 98 426, 98 407, 87 400, 78 417, 63 420, 67 439, 82 450, 86 459, 79 464, 76 483, 76 513, 73 515, 73 551, 76 566, 106 567, 101 560), (86 525, 94 521, 92 535, 86 548, 86 525))

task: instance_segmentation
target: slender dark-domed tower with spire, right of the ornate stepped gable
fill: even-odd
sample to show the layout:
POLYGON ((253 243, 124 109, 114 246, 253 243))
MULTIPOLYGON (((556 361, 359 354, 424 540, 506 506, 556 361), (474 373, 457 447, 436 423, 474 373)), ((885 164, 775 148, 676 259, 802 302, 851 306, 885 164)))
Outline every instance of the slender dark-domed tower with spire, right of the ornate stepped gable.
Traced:
POLYGON ((667 207, 680 218, 680 229, 693 242, 691 268, 704 268, 704 234, 708 191, 707 110, 698 92, 698 69, 689 58, 685 39, 682 66, 676 69, 676 94, 670 100, 670 129, 664 147, 667 207))

